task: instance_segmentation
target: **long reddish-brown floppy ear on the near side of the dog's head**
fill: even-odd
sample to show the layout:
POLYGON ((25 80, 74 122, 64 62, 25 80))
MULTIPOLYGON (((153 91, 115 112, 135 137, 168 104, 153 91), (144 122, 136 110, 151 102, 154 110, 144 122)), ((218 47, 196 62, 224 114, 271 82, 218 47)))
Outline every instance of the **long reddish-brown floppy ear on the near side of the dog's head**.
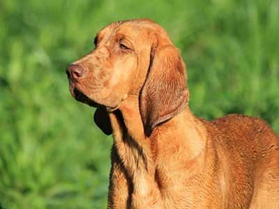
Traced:
POLYGON ((151 49, 149 72, 140 95, 140 114, 149 137, 156 125, 179 114, 189 101, 185 65, 179 49, 151 49))

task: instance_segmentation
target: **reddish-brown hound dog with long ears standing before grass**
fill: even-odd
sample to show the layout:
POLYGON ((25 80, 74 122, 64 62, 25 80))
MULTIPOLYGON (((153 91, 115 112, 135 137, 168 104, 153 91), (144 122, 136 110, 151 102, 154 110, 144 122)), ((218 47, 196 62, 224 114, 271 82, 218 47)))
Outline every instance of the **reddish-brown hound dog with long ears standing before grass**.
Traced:
POLYGON ((151 20, 106 26, 68 67, 72 95, 113 134, 108 208, 279 208, 279 139, 259 118, 188 107, 185 65, 151 20))

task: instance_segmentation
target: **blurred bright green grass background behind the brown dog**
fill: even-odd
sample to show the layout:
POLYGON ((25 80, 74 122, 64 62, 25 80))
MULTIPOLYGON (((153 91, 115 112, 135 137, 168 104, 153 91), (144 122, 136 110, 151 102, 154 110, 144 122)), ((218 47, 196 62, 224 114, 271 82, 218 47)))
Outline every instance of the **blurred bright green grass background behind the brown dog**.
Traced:
POLYGON ((105 208, 111 137, 68 92, 66 66, 116 20, 149 17, 188 67, 207 119, 259 116, 279 132, 279 1, 0 1, 0 203, 105 208))

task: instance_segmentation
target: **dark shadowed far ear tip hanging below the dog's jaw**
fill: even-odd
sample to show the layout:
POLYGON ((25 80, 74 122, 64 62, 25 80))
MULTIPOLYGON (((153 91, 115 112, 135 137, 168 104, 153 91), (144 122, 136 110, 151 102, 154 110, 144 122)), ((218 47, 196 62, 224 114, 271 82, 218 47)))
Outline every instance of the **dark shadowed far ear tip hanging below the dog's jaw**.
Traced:
POLYGON ((112 134, 112 125, 110 124, 110 117, 107 114, 107 110, 105 107, 98 107, 94 114, 94 121, 100 130, 102 130, 105 134, 112 134))

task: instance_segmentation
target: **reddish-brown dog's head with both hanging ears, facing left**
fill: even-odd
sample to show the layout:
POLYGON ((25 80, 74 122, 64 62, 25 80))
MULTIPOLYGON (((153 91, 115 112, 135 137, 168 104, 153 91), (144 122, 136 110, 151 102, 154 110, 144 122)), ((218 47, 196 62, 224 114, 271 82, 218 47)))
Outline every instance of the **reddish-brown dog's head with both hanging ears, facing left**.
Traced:
POLYGON ((151 20, 115 22, 95 38, 95 49, 68 66, 70 92, 97 107, 97 125, 111 133, 106 109, 129 96, 139 98, 144 132, 186 107, 189 92, 185 65, 167 32, 151 20))

